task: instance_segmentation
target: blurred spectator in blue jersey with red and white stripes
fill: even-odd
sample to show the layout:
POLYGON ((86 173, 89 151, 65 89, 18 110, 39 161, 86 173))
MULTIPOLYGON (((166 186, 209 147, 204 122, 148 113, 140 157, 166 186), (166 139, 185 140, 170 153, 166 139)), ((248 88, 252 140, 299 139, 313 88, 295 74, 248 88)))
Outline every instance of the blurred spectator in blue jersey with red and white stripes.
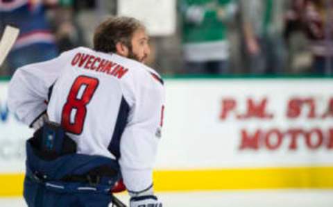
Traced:
POLYGON ((54 3, 54 0, 0 1, 1 31, 6 24, 12 24, 21 30, 17 42, 8 55, 10 74, 22 65, 49 60, 58 55, 55 38, 45 15, 46 6, 53 6, 54 3))

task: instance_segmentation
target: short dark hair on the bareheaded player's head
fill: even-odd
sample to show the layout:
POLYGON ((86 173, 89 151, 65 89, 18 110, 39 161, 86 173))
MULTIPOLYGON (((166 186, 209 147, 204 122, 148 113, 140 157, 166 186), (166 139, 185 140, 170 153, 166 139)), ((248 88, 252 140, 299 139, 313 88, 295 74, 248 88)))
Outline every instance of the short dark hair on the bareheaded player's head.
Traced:
POLYGON ((109 17, 94 32, 94 50, 115 53, 118 42, 131 50, 133 33, 139 28, 144 25, 133 17, 109 17))

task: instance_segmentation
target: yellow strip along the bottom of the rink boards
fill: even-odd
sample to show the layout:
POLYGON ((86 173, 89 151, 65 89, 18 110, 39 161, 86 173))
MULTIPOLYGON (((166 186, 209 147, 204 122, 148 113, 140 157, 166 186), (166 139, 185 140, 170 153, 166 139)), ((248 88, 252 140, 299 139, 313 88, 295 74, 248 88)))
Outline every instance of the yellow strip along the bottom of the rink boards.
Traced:
MULTIPOLYGON (((21 196, 24 174, 0 174, 0 197, 21 196)), ((159 170, 156 191, 333 188, 333 167, 159 170)))

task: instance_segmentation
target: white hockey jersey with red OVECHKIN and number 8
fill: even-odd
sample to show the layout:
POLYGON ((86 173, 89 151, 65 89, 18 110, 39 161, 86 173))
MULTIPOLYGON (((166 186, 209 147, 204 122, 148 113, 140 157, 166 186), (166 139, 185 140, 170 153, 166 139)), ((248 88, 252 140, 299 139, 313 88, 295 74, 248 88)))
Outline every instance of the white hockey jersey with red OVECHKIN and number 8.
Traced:
POLYGON ((128 190, 152 185, 164 110, 163 82, 153 69, 79 47, 17 69, 8 106, 30 125, 46 111, 79 154, 119 159, 128 190))

